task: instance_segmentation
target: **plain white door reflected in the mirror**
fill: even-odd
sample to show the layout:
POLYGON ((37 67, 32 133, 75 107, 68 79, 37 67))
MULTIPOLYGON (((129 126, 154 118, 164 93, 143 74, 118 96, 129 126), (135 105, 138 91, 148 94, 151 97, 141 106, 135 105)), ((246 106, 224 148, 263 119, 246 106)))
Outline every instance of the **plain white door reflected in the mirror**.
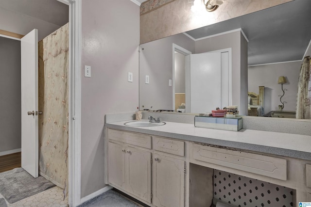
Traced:
POLYGON ((190 55, 190 112, 204 113, 221 106, 221 53, 190 55))

